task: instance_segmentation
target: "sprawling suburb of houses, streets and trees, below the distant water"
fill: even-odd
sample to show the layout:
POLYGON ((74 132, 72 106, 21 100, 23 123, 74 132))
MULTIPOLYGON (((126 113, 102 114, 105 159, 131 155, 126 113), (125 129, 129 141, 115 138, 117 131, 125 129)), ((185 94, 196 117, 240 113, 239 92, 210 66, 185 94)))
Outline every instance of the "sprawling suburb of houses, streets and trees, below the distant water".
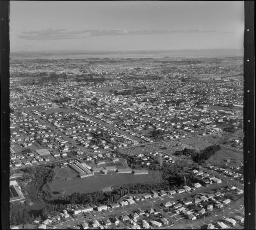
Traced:
POLYGON ((10 61, 12 229, 243 229, 243 57, 10 61))

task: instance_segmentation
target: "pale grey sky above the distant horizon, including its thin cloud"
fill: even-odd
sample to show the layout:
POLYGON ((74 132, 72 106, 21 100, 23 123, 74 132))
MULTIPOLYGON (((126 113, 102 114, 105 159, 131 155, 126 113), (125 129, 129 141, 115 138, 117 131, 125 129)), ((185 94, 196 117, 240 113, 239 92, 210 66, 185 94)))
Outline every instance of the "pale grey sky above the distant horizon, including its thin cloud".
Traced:
POLYGON ((243 49, 243 1, 10 1, 10 51, 243 49))

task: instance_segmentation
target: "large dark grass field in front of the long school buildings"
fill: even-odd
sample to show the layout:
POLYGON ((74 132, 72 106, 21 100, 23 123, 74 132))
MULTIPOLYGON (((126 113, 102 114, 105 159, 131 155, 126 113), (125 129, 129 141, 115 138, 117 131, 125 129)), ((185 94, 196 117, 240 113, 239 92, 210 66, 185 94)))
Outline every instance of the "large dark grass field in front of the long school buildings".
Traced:
POLYGON ((138 182, 159 182, 162 179, 159 172, 150 172, 148 175, 119 174, 119 175, 96 175, 87 178, 72 178, 71 180, 57 180, 47 184, 44 189, 49 192, 61 192, 71 195, 74 192, 93 192, 109 190, 110 186, 138 182))

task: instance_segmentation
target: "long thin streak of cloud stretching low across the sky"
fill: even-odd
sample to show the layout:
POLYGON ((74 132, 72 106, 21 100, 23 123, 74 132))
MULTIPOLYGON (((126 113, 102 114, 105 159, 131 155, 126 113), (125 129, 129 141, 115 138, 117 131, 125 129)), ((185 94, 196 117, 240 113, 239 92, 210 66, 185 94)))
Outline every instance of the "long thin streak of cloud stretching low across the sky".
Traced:
POLYGON ((87 38, 88 36, 121 36, 121 35, 154 35, 173 33, 233 33, 216 30, 81 30, 66 31, 62 29, 30 30, 24 31, 19 38, 25 40, 63 40, 87 38))

